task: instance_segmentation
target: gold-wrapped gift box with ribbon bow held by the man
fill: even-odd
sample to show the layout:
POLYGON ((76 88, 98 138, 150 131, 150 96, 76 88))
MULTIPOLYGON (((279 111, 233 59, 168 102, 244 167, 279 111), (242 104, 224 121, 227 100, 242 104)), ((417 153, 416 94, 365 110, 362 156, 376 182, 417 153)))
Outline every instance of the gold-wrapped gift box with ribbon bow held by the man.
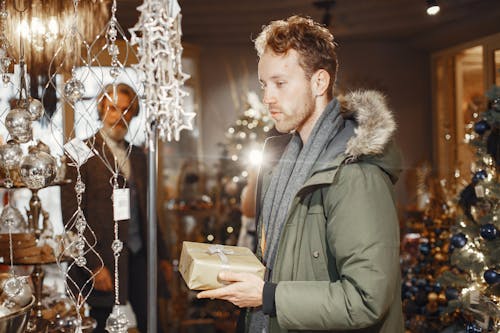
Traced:
POLYGON ((246 247, 183 242, 179 271, 191 290, 223 287, 220 271, 246 272, 264 278, 265 267, 246 247))

